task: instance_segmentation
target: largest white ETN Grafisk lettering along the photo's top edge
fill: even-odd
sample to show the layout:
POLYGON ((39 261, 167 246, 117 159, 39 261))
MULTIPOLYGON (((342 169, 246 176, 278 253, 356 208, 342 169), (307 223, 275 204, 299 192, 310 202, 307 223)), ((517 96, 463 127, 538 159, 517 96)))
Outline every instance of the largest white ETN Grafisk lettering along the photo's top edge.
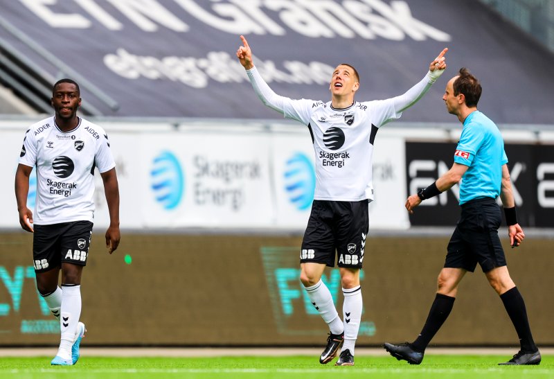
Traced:
MULTIPOLYGON (((49 6, 57 0, 19 0, 37 17, 53 28, 91 28, 92 21, 79 13, 56 13, 49 6)), ((116 15, 100 6, 96 0, 73 0, 90 17, 109 30, 121 30, 123 24, 116 15)), ((186 15, 217 30, 233 35, 285 35, 287 30, 269 17, 276 13, 278 20, 290 30, 312 38, 375 39, 382 37, 401 41, 406 36, 416 41, 435 39, 446 42, 448 33, 415 19, 406 1, 384 0, 212 0, 209 9, 195 0, 174 0, 183 10, 175 14, 159 0, 107 0, 141 30, 156 32, 158 25, 184 33, 190 30, 183 21, 186 15)), ((112 10, 113 12, 113 10, 112 10)))

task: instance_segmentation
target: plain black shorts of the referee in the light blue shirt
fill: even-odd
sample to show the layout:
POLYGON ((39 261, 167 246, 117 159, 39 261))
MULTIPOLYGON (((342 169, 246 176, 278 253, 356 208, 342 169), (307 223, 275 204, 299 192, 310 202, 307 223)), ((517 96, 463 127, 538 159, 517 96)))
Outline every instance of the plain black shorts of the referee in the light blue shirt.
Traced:
POLYGON ((506 256, 498 236, 502 220, 500 207, 490 197, 470 200, 448 243, 445 267, 474 272, 477 263, 483 272, 506 266, 506 256))

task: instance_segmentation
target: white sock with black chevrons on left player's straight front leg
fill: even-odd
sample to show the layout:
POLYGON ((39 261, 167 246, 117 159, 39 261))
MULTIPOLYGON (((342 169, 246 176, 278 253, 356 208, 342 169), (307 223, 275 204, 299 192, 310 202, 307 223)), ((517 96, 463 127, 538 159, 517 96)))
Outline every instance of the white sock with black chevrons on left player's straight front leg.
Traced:
POLYGON ((64 360, 71 360, 71 346, 81 315, 81 286, 62 285, 62 307, 60 318, 60 348, 57 355, 64 360))

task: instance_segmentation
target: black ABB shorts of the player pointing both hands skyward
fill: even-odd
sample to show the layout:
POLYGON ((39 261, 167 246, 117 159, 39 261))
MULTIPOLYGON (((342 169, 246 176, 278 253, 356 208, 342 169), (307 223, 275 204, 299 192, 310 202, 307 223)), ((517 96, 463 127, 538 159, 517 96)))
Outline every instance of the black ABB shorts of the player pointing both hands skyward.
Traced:
POLYGON ((300 263, 361 268, 369 229, 368 200, 314 200, 302 240, 300 263))

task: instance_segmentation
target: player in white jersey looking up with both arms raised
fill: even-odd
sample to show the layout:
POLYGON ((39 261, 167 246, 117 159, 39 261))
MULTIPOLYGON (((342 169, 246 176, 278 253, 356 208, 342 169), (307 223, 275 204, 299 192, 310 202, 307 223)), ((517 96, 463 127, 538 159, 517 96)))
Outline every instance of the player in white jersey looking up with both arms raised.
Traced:
POLYGON ((359 75, 350 64, 339 64, 330 81, 331 101, 292 100, 278 96, 254 67, 247 40, 237 51, 251 84, 262 102, 307 125, 316 160, 316 188, 312 212, 301 247, 300 280, 308 297, 330 328, 319 362, 333 360, 341 348, 338 366, 354 365, 354 347, 361 321, 359 270, 368 233, 368 203, 373 200, 372 155, 380 126, 399 118, 415 104, 445 71, 444 49, 429 72, 405 94, 386 100, 354 100, 359 75), (328 288, 321 281, 325 266, 337 261, 344 294, 343 321, 328 288))

